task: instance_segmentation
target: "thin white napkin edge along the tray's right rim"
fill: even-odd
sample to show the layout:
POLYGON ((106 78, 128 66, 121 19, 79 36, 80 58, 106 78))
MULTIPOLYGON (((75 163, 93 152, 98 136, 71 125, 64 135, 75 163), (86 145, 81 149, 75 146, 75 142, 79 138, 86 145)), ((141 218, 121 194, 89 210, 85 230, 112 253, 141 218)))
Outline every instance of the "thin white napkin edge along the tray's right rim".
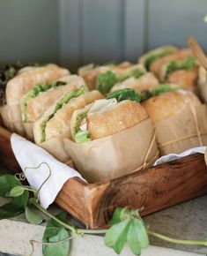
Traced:
POLYGON ((196 154, 196 153, 204 154, 205 153, 205 147, 193 147, 193 148, 190 148, 190 149, 182 152, 181 154, 163 155, 154 163, 154 166, 159 165, 159 164, 164 163, 164 162, 174 161, 174 160, 179 159, 181 157, 184 157, 184 156, 187 156, 187 155, 190 155, 190 154, 196 154))

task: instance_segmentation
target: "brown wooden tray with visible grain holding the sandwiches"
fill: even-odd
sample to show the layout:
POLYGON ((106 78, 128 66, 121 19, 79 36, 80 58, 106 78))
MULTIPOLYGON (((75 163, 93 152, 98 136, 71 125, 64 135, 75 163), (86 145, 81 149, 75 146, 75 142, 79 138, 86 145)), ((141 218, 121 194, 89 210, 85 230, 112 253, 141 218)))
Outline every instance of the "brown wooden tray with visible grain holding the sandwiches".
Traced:
MULTIPOLYGON (((11 132, 0 126, 0 161, 12 171, 19 170, 11 150, 11 132)), ((91 229, 104 227, 115 207, 144 207, 141 215, 174 206, 207 193, 207 167, 203 154, 115 178, 86 184, 71 178, 55 203, 91 229)))

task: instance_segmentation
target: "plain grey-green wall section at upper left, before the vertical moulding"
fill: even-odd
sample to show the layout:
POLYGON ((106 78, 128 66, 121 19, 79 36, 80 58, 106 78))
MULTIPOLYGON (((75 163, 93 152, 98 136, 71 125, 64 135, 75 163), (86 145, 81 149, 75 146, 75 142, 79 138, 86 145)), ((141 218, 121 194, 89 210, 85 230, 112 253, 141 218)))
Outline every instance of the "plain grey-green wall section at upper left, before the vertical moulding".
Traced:
POLYGON ((0 0, 0 63, 59 60, 58 0, 0 0))

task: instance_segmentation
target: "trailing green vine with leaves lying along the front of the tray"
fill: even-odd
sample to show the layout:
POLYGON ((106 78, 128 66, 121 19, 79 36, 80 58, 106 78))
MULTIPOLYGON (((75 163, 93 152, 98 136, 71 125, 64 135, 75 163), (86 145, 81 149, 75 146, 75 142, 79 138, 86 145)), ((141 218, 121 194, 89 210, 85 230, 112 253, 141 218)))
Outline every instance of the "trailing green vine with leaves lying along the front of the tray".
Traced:
POLYGON ((37 191, 33 187, 21 184, 15 176, 11 175, 0 177, 0 196, 13 198, 9 204, 0 207, 1 218, 10 218, 25 211, 28 222, 39 224, 43 218, 31 210, 32 205, 50 218, 42 242, 31 241, 31 245, 34 242, 42 244, 42 252, 45 256, 68 255, 70 240, 84 234, 105 234, 105 245, 113 248, 118 254, 122 252, 124 245, 128 244, 134 255, 140 255, 142 250, 149 246, 149 236, 175 244, 207 246, 206 239, 203 241, 181 240, 153 232, 146 227, 138 211, 129 207, 115 209, 107 230, 78 229, 67 222, 66 213, 54 216, 42 208, 38 201, 37 191), (31 192, 30 199, 29 192, 31 192))

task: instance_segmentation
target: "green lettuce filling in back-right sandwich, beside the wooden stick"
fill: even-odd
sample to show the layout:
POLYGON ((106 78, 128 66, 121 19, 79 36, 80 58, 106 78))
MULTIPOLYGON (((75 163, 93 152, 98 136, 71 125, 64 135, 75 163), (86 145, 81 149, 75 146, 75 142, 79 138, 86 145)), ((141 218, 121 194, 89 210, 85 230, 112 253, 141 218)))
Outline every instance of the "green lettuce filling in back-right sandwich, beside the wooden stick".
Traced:
POLYGON ((196 65, 196 58, 194 56, 189 56, 184 61, 171 61, 164 65, 162 72, 162 80, 166 81, 171 72, 175 72, 178 70, 192 70, 196 65))

